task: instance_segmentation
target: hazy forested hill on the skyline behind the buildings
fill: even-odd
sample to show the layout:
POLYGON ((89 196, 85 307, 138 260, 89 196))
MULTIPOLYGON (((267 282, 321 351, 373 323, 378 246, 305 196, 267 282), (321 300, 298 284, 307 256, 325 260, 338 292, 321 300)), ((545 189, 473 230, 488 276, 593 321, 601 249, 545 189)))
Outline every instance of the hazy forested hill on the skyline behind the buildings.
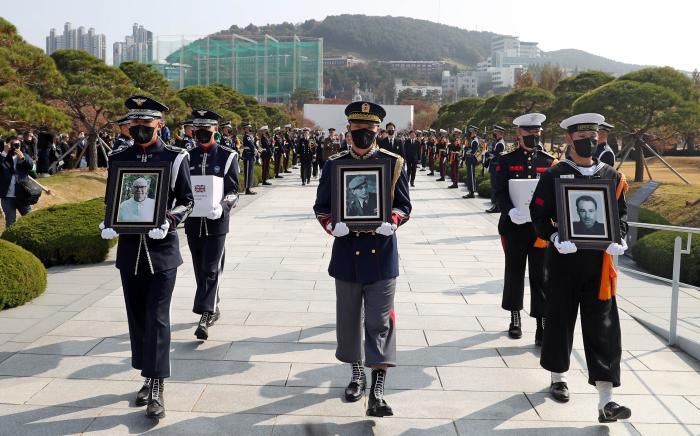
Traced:
MULTIPOLYGON (((231 26, 219 34, 243 36, 291 36, 323 38, 326 56, 354 55, 363 59, 449 60, 476 65, 491 52, 495 33, 476 32, 458 27, 405 17, 333 15, 323 21, 300 24, 281 23, 241 28, 231 26)), ((542 63, 559 64, 578 70, 601 70, 624 74, 642 68, 597 56, 582 50, 565 49, 545 53, 542 63)))

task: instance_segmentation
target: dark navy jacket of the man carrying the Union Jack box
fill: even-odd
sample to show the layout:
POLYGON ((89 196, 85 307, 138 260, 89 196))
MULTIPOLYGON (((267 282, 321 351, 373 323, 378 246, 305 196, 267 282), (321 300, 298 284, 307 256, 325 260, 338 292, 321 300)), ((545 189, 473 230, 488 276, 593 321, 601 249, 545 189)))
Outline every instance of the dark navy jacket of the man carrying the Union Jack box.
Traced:
POLYGON ((219 144, 214 144, 207 150, 198 146, 190 151, 190 174, 224 179, 224 196, 220 203, 224 211, 216 220, 190 217, 185 221, 185 233, 196 237, 228 233, 229 214, 238 202, 238 152, 219 144))

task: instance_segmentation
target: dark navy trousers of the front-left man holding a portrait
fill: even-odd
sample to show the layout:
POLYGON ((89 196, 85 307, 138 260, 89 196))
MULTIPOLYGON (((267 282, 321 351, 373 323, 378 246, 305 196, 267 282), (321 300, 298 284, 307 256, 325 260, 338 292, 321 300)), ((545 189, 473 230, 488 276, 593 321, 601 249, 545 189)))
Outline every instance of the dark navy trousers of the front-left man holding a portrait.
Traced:
POLYGON ((120 274, 129 322, 131 366, 140 369, 143 377, 170 377, 170 301, 177 268, 151 274, 142 260, 138 274, 126 269, 120 274))

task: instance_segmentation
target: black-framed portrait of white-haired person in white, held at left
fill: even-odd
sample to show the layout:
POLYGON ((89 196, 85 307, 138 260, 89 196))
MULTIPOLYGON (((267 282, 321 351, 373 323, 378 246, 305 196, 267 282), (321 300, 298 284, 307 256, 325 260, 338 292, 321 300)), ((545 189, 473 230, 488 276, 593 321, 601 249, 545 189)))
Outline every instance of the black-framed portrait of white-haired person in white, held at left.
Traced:
POLYGON ((120 234, 145 234, 165 223, 170 162, 110 162, 105 197, 105 227, 120 234), (146 181, 146 186, 139 180, 146 181), (132 187, 140 196, 146 190, 145 203, 133 207, 136 200, 132 187), (150 200, 150 201, 149 201, 150 200))

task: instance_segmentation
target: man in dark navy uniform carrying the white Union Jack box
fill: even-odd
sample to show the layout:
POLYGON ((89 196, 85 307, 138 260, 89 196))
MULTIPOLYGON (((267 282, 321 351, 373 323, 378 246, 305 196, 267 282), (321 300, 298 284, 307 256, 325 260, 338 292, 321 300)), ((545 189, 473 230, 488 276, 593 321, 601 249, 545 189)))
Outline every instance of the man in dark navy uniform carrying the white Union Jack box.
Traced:
POLYGON ((224 243, 229 231, 229 214, 238 202, 238 152, 214 139, 221 116, 206 109, 192 111, 197 148, 190 151, 190 173, 221 177, 223 198, 206 217, 190 217, 185 222, 187 244, 192 253, 197 290, 192 312, 201 315, 195 336, 209 338, 209 327, 221 316, 219 283, 224 270, 224 243))

